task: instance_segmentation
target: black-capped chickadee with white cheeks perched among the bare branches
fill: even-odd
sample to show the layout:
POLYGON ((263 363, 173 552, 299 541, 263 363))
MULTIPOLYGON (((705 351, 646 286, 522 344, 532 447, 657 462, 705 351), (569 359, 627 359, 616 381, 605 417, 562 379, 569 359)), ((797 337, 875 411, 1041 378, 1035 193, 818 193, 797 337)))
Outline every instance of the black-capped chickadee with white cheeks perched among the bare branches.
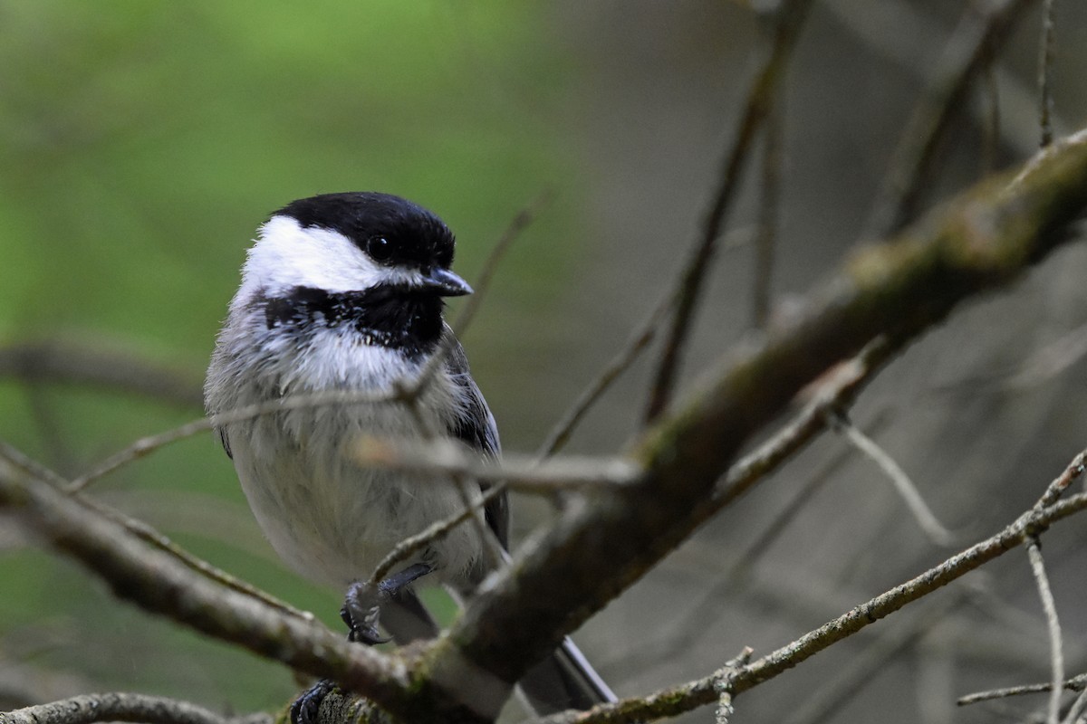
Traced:
MULTIPOLYGON (((417 402, 295 407, 218 428, 249 505, 272 546, 302 575, 345 589, 368 579, 403 538, 463 509, 443 481, 359 466, 363 435, 418 437, 420 416, 482 455, 499 454, 498 430, 467 359, 442 319, 443 297, 471 294, 450 271, 453 234, 398 196, 329 193, 295 201, 260 228, 220 332, 204 399, 210 415, 295 395, 391 393, 445 359, 417 402)), ((508 545, 503 495, 486 522, 508 545)), ((408 586, 440 582, 460 598, 489 572, 478 526, 430 542, 383 584, 382 624, 400 644, 438 628, 408 586)), ((357 590, 352 586, 351 590, 357 590)), ((379 640, 349 594, 352 639, 379 640)), ((614 695, 569 639, 521 682, 538 713, 587 709, 614 695)), ((325 683, 303 696, 296 720, 315 720, 325 683)))

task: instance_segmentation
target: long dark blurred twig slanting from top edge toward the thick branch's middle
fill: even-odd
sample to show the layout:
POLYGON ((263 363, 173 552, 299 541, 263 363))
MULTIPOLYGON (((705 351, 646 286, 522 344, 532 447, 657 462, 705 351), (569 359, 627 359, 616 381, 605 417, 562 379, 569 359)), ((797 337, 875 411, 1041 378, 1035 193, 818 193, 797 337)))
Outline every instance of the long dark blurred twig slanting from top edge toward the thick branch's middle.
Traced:
POLYGON ((736 195, 740 176, 751 154, 753 139, 762 126, 773 103, 774 89, 785 75, 800 28, 808 15, 811 0, 783 0, 777 10, 777 26, 774 42, 766 60, 759 68, 747 93, 744 116, 740 118, 736 138, 728 151, 717 178, 710 212, 702 225, 701 233, 691 252, 690 259, 680 275, 679 296, 676 302, 672 326, 664 342, 664 352, 657 369, 646 420, 653 420, 667 406, 675 385, 679 367, 679 356, 687 341, 695 305, 698 303, 702 282, 710 270, 710 262, 716 247, 717 238, 724 228, 725 217, 736 195))

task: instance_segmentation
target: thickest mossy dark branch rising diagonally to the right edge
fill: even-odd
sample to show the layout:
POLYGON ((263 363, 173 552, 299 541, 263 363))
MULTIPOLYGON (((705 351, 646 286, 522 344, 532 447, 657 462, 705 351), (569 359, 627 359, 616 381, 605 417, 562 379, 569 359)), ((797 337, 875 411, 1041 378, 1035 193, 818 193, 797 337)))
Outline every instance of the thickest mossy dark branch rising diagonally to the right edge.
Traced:
POLYGON ((1080 134, 1011 183, 983 185, 900 239, 858 251, 805 314, 744 350, 637 441, 639 480, 573 506, 488 579, 434 661, 466 658, 517 681, 719 507, 717 477, 804 385, 875 336, 915 338, 961 301, 1012 281, 1067 239, 1085 205, 1080 134))

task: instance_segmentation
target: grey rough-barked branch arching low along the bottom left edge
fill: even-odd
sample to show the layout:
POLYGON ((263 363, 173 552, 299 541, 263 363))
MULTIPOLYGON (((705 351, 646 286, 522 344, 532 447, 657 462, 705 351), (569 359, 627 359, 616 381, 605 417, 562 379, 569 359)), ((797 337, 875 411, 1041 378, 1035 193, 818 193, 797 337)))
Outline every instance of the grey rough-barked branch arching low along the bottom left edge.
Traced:
POLYGON ((145 694, 85 694, 0 713, 0 724, 272 724, 270 714, 224 716, 188 701, 145 694))

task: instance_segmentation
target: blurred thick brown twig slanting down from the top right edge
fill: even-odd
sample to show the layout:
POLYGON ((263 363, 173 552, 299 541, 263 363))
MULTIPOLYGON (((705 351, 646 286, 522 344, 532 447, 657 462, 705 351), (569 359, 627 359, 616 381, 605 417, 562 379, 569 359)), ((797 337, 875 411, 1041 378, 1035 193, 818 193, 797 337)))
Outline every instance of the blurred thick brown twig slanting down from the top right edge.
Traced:
POLYGON ((948 40, 936 79, 910 116, 866 227, 870 237, 899 231, 916 213, 930 187, 936 150, 978 74, 1011 35, 1034 0, 999 0, 984 17, 969 4, 948 40))

